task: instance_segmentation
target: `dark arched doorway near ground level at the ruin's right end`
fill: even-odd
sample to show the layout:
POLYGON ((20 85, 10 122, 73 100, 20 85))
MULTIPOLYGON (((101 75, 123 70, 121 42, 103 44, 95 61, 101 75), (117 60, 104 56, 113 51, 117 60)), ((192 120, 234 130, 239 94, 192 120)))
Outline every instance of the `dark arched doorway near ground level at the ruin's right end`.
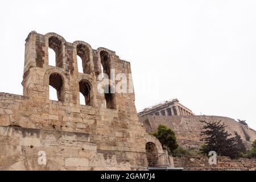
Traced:
POLYGON ((158 151, 156 149, 155 143, 152 143, 152 142, 146 143, 146 155, 147 155, 148 167, 157 167, 158 151))

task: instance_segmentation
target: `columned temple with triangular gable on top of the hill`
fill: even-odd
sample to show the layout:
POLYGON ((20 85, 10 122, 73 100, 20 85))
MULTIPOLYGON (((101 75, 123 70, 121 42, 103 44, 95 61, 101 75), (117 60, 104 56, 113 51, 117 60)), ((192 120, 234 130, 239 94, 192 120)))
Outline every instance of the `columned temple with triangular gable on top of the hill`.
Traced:
POLYGON ((195 115, 190 109, 181 105, 179 100, 164 101, 160 104, 148 107, 138 113, 139 117, 144 115, 195 115))

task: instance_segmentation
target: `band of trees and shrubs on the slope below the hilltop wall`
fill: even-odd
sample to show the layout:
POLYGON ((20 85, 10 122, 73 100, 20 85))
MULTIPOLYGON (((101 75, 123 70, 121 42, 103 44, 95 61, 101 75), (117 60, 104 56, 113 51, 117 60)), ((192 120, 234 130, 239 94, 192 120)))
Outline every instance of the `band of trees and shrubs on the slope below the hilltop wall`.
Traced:
MULTIPOLYGON (((241 136, 234 131, 234 137, 225 130, 225 124, 219 122, 204 123, 204 131, 201 131, 201 145, 199 154, 208 155, 210 151, 217 152, 220 156, 229 156, 231 159, 238 157, 256 158, 256 140, 252 144, 252 148, 246 151, 245 144, 241 136)), ((167 149, 171 154, 179 155, 196 155, 197 151, 188 150, 179 146, 176 140, 174 131, 164 125, 159 125, 158 130, 151 133, 162 144, 164 149, 167 149)))

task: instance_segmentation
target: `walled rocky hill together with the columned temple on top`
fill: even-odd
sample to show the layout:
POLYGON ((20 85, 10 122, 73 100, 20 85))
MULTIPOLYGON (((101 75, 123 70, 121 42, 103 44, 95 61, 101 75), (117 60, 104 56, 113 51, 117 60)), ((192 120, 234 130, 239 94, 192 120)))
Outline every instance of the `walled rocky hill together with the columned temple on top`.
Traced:
POLYGON ((241 135, 247 147, 250 147, 251 142, 256 139, 256 131, 250 127, 228 117, 195 115, 190 109, 181 105, 177 99, 148 107, 139 112, 138 117, 148 133, 156 131, 160 124, 166 125, 174 130, 181 146, 194 150, 198 150, 202 144, 200 133, 203 131, 203 123, 200 121, 224 122, 228 133, 234 135, 236 131, 241 135))

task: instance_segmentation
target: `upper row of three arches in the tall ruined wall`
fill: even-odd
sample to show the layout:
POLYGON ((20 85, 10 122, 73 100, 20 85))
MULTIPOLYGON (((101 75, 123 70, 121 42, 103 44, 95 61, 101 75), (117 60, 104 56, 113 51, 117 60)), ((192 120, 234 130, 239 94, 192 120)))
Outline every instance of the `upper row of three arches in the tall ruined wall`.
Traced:
MULTIPOLYGON (((48 45, 48 49, 46 49, 48 52, 48 65, 63 68, 65 61, 65 39, 55 33, 48 33, 45 35, 45 38, 48 45)), ((97 49, 100 63, 97 63, 97 69, 94 69, 92 47, 83 41, 75 41, 72 45, 73 60, 78 72, 85 74, 94 72, 96 76, 103 72, 110 77, 110 52, 107 49, 97 49)))

